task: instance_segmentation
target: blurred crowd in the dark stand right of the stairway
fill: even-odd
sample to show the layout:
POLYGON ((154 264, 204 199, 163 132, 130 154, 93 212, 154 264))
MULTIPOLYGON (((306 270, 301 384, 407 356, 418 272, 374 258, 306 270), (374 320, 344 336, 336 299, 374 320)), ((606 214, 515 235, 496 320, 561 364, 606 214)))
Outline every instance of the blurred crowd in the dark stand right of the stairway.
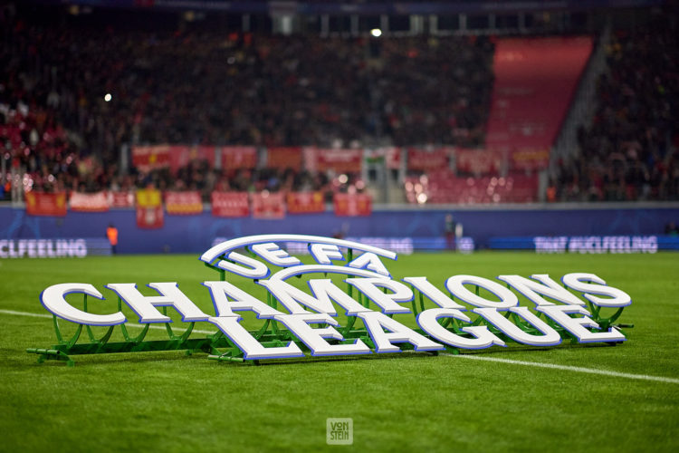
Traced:
POLYGON ((679 199, 679 42, 673 21, 617 33, 579 156, 559 162, 553 198, 679 199))

